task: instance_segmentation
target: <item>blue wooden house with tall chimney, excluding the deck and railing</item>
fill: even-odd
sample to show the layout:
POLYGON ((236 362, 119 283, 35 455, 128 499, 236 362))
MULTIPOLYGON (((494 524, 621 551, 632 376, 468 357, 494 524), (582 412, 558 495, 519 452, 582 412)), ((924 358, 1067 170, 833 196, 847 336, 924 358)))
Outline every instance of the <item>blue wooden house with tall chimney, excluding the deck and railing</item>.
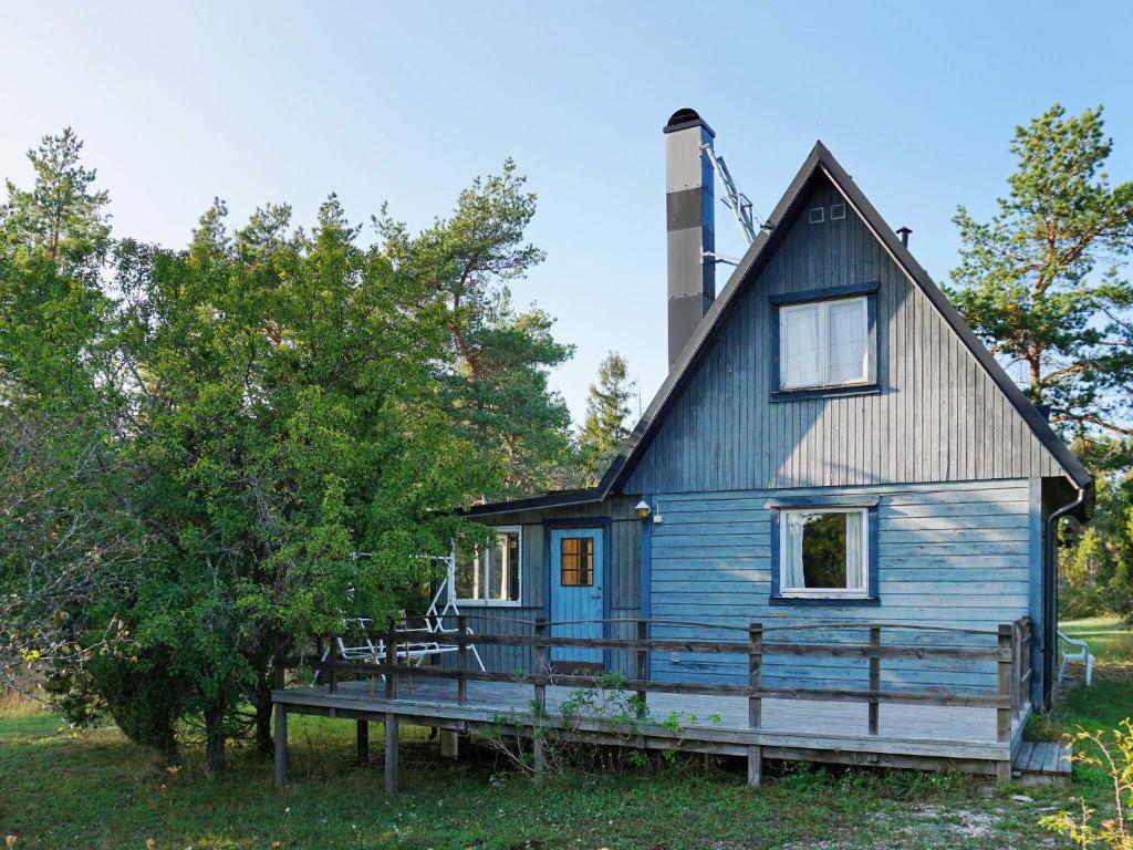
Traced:
MULTIPOLYGON (((460 566, 462 610, 553 634, 619 622, 1030 618, 1030 702, 1050 692, 1053 527, 1091 477, 817 143, 716 297, 713 131, 664 128, 668 376, 600 484, 478 505, 499 545, 460 566), (470 607, 480 606, 480 607, 470 607), (585 622, 579 622, 585 621, 585 622)), ((955 641, 953 641, 955 643, 955 641)), ((529 664, 484 647, 491 669, 529 664)), ((627 669, 616 649, 556 648, 627 669)), ((657 681, 741 682, 743 658, 651 653, 657 681)), ((838 657, 768 658, 765 683, 861 680, 838 657)), ((993 665, 887 664, 900 689, 994 687, 993 665)))

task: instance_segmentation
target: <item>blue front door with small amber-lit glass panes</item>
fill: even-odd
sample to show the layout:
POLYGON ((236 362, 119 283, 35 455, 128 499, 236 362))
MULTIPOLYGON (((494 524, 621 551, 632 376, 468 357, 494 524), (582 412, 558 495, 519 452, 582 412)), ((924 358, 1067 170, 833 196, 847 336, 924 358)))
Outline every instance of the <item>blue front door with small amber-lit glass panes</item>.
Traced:
MULTIPOLYGON (((551 634, 554 636, 602 637, 602 534, 600 528, 551 532, 551 634)), ((602 649, 552 647, 551 660, 600 665, 602 649)))

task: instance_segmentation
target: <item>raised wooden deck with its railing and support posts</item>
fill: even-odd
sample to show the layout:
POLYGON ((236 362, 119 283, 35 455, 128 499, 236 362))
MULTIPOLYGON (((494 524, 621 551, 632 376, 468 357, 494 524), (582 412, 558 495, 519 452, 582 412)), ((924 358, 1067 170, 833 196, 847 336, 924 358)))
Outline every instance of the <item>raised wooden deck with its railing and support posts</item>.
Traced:
MULTIPOLYGON (((747 640, 713 640, 700 636, 648 637, 650 626, 671 624, 661 620, 638 621, 636 638, 582 638, 550 634, 548 623, 542 619, 534 623, 534 635, 474 635, 468 619, 458 617, 457 628, 444 632, 444 640, 455 651, 450 655, 453 666, 417 665, 411 652, 412 632, 399 632, 397 621, 384 632, 368 635, 369 660, 340 658, 338 644, 329 636, 326 654, 316 648, 316 661, 306 665, 308 671, 317 671, 323 677, 318 681, 325 685, 283 687, 286 669, 304 665, 301 658, 289 662, 282 648, 278 651, 276 687, 272 691, 276 780, 287 781, 287 717, 292 713, 358 721, 360 755, 368 746, 369 721, 382 722, 386 788, 391 792, 397 789, 400 723, 449 732, 492 728, 530 738, 537 775, 545 768, 547 741, 569 736, 574 741, 597 745, 743 756, 751 784, 759 783, 765 758, 952 768, 1008 780, 1030 704, 1025 695, 1031 628, 1025 619, 1002 623, 991 632, 927 629, 926 634, 936 631, 951 637, 953 645, 885 641, 887 630, 894 627, 883 623, 765 628, 753 622, 742 630, 747 640), (821 632, 832 629, 841 629, 841 637, 821 639, 821 632), (855 639, 857 634, 867 634, 868 641, 855 639), (983 645, 957 643, 963 636, 981 638, 983 645), (529 647, 534 664, 527 672, 471 669, 469 648, 474 644, 529 647), (593 673, 553 672, 548 651, 554 647, 624 651, 636 658, 634 670, 630 677, 619 677, 623 690, 602 690, 593 673), (740 655, 747 661, 748 680, 708 683, 651 679, 647 658, 649 653, 658 652, 740 655), (862 688, 847 681, 828 688, 774 682, 768 686, 761 681, 768 656, 795 658, 798 664, 806 664, 810 657, 864 658, 869 664, 868 685, 862 688), (978 694, 885 687, 883 663, 893 662, 994 664, 997 686, 994 692, 978 694), (580 704, 580 695, 591 699, 580 704), (564 711, 568 700, 574 703, 569 712, 564 711), (505 730, 501 724, 506 724, 505 730)), ((704 623, 679 624, 699 631, 713 628, 704 623)), ((900 628, 908 631, 917 627, 900 628)))

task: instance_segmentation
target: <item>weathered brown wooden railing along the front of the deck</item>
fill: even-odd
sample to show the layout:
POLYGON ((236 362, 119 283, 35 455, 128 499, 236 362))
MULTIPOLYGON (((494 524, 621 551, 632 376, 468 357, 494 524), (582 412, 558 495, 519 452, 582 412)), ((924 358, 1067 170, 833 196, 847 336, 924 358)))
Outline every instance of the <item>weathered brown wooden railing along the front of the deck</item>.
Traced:
MULTIPOLYGON (((457 652, 448 657, 455 658, 451 666, 446 665, 409 665, 399 661, 399 646, 404 646, 410 638, 398 622, 391 622, 384 631, 369 631, 370 640, 384 641, 385 660, 383 663, 343 661, 338 654, 338 640, 326 636, 329 652, 318 660, 310 662, 320 680, 327 690, 334 694, 339 689, 340 674, 363 674, 385 677, 384 690, 386 700, 395 700, 399 696, 399 681, 402 677, 421 677, 454 680, 457 682, 457 704, 468 704, 469 682, 505 682, 529 685, 534 688, 535 711, 533 723, 546 721, 546 688, 562 686, 573 688, 595 687, 594 675, 578 673, 552 673, 548 664, 548 653, 554 648, 576 649, 612 649, 628 653, 632 658, 633 675, 619 682, 619 687, 637 695, 642 714, 647 706, 649 694, 700 694, 708 696, 742 697, 748 700, 748 729, 763 728, 764 699, 806 699, 828 702, 866 703, 868 706, 868 734, 878 736, 881 704, 912 704, 932 706, 959 706, 994 708, 996 711, 996 740, 1010 743, 1013 715, 1028 702, 1031 680, 1031 640, 1032 626, 1029 618, 1022 618, 1011 623, 1003 623, 996 630, 945 628, 931 626, 910 626, 898 623, 846 623, 816 622, 795 626, 767 627, 752 622, 747 628, 721 626, 714 623, 693 623, 672 620, 605 620, 599 621, 603 628, 606 623, 619 623, 622 628, 630 626, 634 637, 566 637, 553 634, 553 626, 579 623, 550 623, 539 619, 536 621, 509 621, 514 628, 519 624, 529 626, 530 635, 499 635, 485 630, 480 623, 493 618, 462 614, 455 618, 455 631, 437 636, 437 639, 450 646, 455 645, 457 652), (476 620, 476 634, 469 634, 469 621, 476 620), (700 634, 725 631, 742 635, 743 639, 724 640, 700 637, 649 637, 654 627, 667 627, 674 630, 692 630, 700 634), (813 640, 806 639, 807 632, 813 631, 860 632, 868 635, 867 640, 813 640), (885 643, 887 634, 926 634, 935 636, 955 636, 965 639, 983 639, 985 645, 964 645, 962 641, 952 644, 922 643, 885 643), (802 636, 804 639, 791 639, 802 636), (468 664, 469 646, 512 646, 523 647, 533 652, 535 669, 530 672, 497 672, 471 670, 468 664), (657 681, 649 678, 649 653, 701 653, 719 655, 738 655, 747 660, 747 683, 716 685, 695 681, 657 681), (767 656, 793 657, 835 657, 861 658, 868 662, 868 686, 861 688, 809 688, 809 687, 775 687, 764 682, 764 661, 767 656), (994 691, 961 692, 946 688, 895 689, 883 687, 883 663, 892 661, 953 661, 953 662, 988 662, 996 665, 996 686, 994 691)), ((594 621, 588 621, 594 622, 594 621)), ((356 632, 357 635, 357 632, 356 632)), ((293 666, 295 658, 276 657, 276 669, 293 666)), ((278 686, 282 681, 276 679, 278 686)), ((386 709, 387 711, 387 709, 386 709)), ((395 728, 395 723, 394 723, 395 728)), ((387 724, 387 734, 389 734, 387 724)), ((535 763, 537 770, 543 763, 543 737, 533 734, 535 740, 535 763)), ((395 743, 395 741, 394 741, 395 743)), ((748 747, 749 781, 758 783, 761 771, 760 748, 748 747)), ((1010 757, 1003 764, 997 764, 1000 777, 1010 776, 1010 757)))

